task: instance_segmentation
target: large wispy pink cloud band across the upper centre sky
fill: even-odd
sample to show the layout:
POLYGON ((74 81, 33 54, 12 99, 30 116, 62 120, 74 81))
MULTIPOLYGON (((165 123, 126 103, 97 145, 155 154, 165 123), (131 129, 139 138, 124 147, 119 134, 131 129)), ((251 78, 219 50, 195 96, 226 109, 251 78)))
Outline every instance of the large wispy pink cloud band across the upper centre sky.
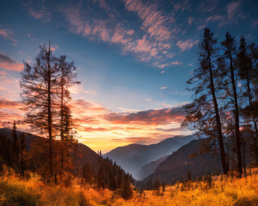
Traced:
POLYGON ((122 54, 133 54, 140 61, 161 59, 170 63, 170 59, 175 55, 171 52, 171 42, 175 38, 174 35, 180 31, 173 14, 164 13, 160 6, 150 2, 123 2, 130 15, 136 15, 140 19, 139 31, 135 31, 135 26, 129 24, 126 19, 116 18, 118 12, 115 8, 108 9, 104 6, 107 2, 98 1, 100 7, 107 8, 103 18, 95 17, 89 13, 90 11, 83 11, 81 2, 71 6, 60 6, 60 11, 65 14, 71 32, 89 40, 120 45, 122 54))

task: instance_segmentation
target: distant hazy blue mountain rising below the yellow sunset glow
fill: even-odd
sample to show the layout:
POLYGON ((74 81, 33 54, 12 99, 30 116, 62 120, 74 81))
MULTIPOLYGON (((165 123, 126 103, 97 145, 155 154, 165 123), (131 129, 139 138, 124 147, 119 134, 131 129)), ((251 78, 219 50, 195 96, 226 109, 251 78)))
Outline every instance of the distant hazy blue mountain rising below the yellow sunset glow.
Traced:
POLYGON ((138 176, 143 165, 172 154, 173 150, 178 150, 193 139, 197 139, 197 136, 178 135, 157 144, 129 144, 123 147, 117 147, 104 154, 103 157, 109 157, 113 161, 116 161, 116 164, 121 165, 126 172, 131 173, 136 179, 139 179, 143 178, 142 176, 138 176))

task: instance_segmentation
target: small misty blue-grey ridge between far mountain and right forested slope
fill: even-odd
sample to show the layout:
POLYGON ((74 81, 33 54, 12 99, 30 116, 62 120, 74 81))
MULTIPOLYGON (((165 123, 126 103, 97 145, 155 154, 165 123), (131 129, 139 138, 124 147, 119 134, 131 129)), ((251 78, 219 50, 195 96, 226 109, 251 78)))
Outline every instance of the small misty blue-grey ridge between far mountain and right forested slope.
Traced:
POLYGON ((165 157, 159 158, 156 161, 151 161, 150 163, 143 165, 141 170, 138 172, 137 176, 139 180, 144 179, 145 177, 149 176, 151 173, 154 173, 155 169, 158 165, 167 159, 170 155, 166 155, 165 157))

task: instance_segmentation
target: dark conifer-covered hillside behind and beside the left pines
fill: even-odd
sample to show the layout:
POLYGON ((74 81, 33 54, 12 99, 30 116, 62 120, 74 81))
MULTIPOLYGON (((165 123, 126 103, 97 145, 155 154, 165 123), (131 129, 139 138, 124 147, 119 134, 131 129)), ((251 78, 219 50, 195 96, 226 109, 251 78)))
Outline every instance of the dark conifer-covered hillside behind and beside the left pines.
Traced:
MULTIPOLYGON (((4 134, 0 133, 0 173, 4 169, 12 168, 21 177, 28 178, 31 172, 36 172, 44 180, 44 165, 48 163, 45 159, 48 139, 15 131, 14 128, 11 131, 6 130, 4 134)), ((58 143, 59 141, 53 140, 53 148, 58 143)), ((55 152, 53 154, 56 155, 55 152)), ((108 157, 103 158, 83 144, 78 144, 75 150, 69 152, 69 156, 73 167, 62 181, 57 179, 57 184, 70 186, 72 179, 79 178, 82 185, 89 184, 96 189, 108 188, 117 191, 125 199, 131 197, 131 185, 134 185, 135 180, 120 165, 116 165, 116 162, 113 163, 108 157)))

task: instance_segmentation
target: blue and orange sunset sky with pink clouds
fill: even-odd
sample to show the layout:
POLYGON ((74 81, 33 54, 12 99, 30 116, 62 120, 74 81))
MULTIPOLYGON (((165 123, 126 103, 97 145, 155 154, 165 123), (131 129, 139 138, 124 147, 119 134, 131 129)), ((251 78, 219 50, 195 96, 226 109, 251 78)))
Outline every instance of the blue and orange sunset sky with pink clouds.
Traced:
MULTIPOLYGON (((25 116, 19 87, 23 63, 39 45, 75 61, 70 88, 79 142, 102 153, 153 144, 193 131, 181 128, 191 102, 186 81, 204 28, 219 42, 229 31, 256 42, 257 1, 1 1, 0 119, 25 116)), ((22 125, 19 130, 25 130, 22 125)))

